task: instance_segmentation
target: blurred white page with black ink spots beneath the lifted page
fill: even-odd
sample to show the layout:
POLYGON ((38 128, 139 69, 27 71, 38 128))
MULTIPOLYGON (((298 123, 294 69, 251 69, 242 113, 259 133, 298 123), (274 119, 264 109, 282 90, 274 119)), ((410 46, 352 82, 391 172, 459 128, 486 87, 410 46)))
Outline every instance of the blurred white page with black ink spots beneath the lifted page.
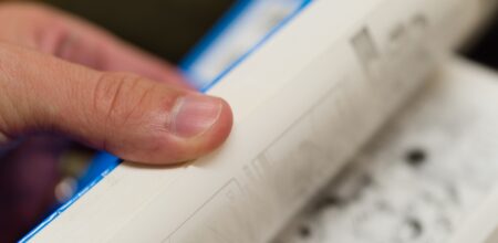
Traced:
POLYGON ((276 242, 447 242, 497 182, 498 76, 454 62, 276 242))

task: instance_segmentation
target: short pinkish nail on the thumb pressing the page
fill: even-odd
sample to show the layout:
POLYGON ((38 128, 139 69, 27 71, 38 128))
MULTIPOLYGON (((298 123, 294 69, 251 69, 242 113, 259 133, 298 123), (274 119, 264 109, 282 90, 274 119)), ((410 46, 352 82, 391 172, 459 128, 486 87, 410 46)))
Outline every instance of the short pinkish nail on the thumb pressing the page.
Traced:
POLYGON ((221 108, 218 98, 204 95, 180 97, 172 110, 172 131, 183 138, 203 135, 218 120, 221 108))

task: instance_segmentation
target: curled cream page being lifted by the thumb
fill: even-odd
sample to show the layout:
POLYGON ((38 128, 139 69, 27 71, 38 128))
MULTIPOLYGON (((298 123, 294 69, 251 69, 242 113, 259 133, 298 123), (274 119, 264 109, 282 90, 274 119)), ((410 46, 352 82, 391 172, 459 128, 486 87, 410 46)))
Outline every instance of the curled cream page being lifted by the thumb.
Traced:
POLYGON ((299 221, 295 215, 344 166, 367 152, 365 145, 394 123, 396 110, 417 107, 413 97, 425 97, 417 94, 432 94, 424 104, 439 104, 442 114, 460 97, 487 107, 471 103, 475 94, 465 96, 473 88, 497 101, 496 85, 471 84, 468 75, 479 72, 447 57, 494 3, 309 2, 204 86, 234 109, 235 128, 221 149, 177 168, 123 162, 24 241, 294 241, 277 235, 299 221), (465 78, 456 78, 460 74, 465 78), (427 88, 427 82, 439 85, 427 88), (430 98, 439 95, 446 99, 430 98))

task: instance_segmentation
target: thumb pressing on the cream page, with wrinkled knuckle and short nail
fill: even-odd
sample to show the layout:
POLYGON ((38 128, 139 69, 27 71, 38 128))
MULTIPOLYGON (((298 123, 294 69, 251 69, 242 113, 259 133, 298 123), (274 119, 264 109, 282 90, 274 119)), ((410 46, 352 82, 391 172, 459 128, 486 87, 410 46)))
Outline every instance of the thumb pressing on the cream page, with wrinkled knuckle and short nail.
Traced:
POLYGON ((10 44, 0 44, 0 142, 51 130, 132 161, 197 158, 220 146, 232 123, 220 98, 10 44))

